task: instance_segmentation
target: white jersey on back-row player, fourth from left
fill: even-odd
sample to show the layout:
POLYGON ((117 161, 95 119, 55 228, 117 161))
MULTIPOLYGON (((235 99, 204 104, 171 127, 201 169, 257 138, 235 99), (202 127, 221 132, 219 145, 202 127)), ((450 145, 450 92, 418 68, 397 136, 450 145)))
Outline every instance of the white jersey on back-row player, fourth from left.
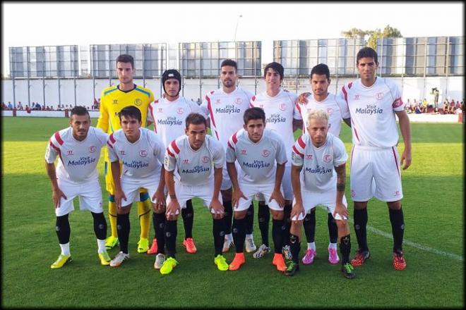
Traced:
POLYGON ((262 108, 265 112, 267 128, 275 130, 282 137, 287 148, 287 166, 291 165, 291 148, 294 144, 293 118, 301 119, 296 107, 296 99, 295 94, 282 89, 275 97, 270 97, 267 92, 263 92, 251 98, 251 108, 262 108))

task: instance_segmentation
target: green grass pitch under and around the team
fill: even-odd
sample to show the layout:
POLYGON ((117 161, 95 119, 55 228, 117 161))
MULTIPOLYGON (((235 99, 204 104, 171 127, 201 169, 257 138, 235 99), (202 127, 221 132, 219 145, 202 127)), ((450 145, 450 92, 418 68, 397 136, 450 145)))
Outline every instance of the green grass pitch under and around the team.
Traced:
MULTIPOLYGON (((179 221, 179 266, 167 276, 153 269, 154 256, 136 253, 139 225, 131 211, 131 259, 120 268, 100 266, 88 212, 71 213, 73 262, 58 270, 50 264, 59 254, 54 233, 50 182, 44 169, 47 140, 65 128, 65 118, 2 118, 2 306, 5 307, 460 307, 464 306, 464 261, 424 250, 426 247, 464 255, 462 202, 463 126, 412 123, 412 166, 402 171, 405 244, 408 267, 394 271, 392 240, 368 232, 371 259, 356 269, 357 278, 342 278, 339 266, 326 259, 327 216, 317 209, 318 257, 285 277, 271 264, 246 254, 237 272, 217 271, 213 264, 212 220, 195 200, 193 235, 198 247, 186 254, 179 221)), ((95 124, 95 120, 92 121, 95 124)), ((347 151, 349 129, 342 128, 347 151)), ((401 140, 401 138, 400 138, 401 140)), ((400 143, 399 151, 403 149, 400 143)), ((349 166, 349 165, 348 165, 349 166)), ((103 171, 102 161, 99 163, 103 171)), ((349 173, 348 173, 349 175, 349 173)), ((101 175, 101 184, 104 183, 101 175)), ((349 182, 347 197, 349 199, 349 182)), ((107 195, 104 193, 104 197, 107 195)), ((104 198, 104 200, 106 200, 104 198)), ((78 206, 78 204, 75 204, 78 206)), ((351 206, 351 202, 350 202, 351 206)), ((349 208, 352 214, 352 207, 349 208)), ((388 210, 369 202, 369 225, 391 234, 388 210)), ((104 206, 107 214, 107 206, 104 206)), ((257 214, 257 209, 256 209, 257 214)), ((260 232, 255 215, 254 236, 260 232)), ((107 220, 108 221, 108 220, 107 220)), ((352 232, 352 253, 357 247, 352 232)), ((271 232, 270 232, 270 242, 271 232)), ((150 236, 153 236, 151 225, 150 236)), ((304 254, 305 242, 301 245, 304 254)), ((117 249, 109 254, 115 256, 117 249)), ((226 254, 231 261, 233 253, 226 254)))

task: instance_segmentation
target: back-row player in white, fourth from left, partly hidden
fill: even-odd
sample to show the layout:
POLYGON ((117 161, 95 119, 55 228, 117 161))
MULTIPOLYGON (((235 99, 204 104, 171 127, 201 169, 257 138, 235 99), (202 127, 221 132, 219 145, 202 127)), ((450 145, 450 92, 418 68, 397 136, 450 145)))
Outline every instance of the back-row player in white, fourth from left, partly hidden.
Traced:
MULTIPOLYGON (((282 230, 284 234, 284 245, 288 242, 289 235, 289 214, 292 209, 293 190, 291 182, 291 149, 294 144, 294 130, 300 128, 302 125, 301 116, 296 108, 295 101, 296 95, 289 92, 285 92, 280 89, 280 85, 283 80, 283 66, 280 63, 269 63, 264 68, 264 78, 267 90, 262 94, 253 96, 251 98, 251 107, 259 107, 265 111, 265 123, 267 128, 273 129, 279 133, 282 137, 285 147, 287 149, 288 161, 285 165, 285 174, 283 175, 283 192, 285 196, 285 208, 284 208, 284 225, 282 230)), ((263 200, 263 199, 261 199, 263 200)), ((266 202, 265 202, 266 203, 266 202)), ((268 214, 268 208, 266 204, 259 203, 259 218, 263 218, 262 214, 268 214)), ((259 227, 261 227, 261 220, 259 221, 259 227)), ((267 227, 261 228, 261 233, 265 233, 268 230, 267 227)), ((285 249, 287 246, 285 245, 285 249)), ((255 258, 261 258, 265 254, 270 252, 270 248, 267 244, 262 244, 259 247, 258 252, 254 253, 255 258)))

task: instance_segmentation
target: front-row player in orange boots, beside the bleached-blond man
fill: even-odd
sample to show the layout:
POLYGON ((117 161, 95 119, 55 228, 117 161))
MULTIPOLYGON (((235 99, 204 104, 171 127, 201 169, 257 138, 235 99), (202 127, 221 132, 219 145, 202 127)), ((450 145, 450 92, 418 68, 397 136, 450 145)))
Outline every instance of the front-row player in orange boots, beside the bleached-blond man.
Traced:
POLYGON ((243 129, 229 138, 227 147, 227 169, 233 183, 234 220, 233 239, 237 252, 229 270, 238 270, 245 263, 244 237, 245 223, 249 204, 256 194, 263 194, 273 216, 272 236, 275 247, 273 265, 285 271, 282 256, 283 206, 285 199, 281 192, 287 150, 277 132, 265 129, 265 113, 261 108, 251 108, 244 112, 243 129), (241 170, 236 168, 238 161, 241 170))

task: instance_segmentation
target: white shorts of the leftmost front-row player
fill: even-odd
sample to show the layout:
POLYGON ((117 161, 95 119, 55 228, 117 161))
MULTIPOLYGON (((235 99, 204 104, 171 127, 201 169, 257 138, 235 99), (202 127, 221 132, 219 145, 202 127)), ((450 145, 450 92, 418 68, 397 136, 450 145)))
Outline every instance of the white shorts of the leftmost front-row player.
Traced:
POLYGON ((99 180, 91 180, 81 184, 57 179, 59 188, 66 196, 61 197, 59 208, 55 208, 56 216, 64 216, 74 211, 73 199, 79 196, 79 209, 88 210, 94 213, 102 213, 102 189, 99 180))

